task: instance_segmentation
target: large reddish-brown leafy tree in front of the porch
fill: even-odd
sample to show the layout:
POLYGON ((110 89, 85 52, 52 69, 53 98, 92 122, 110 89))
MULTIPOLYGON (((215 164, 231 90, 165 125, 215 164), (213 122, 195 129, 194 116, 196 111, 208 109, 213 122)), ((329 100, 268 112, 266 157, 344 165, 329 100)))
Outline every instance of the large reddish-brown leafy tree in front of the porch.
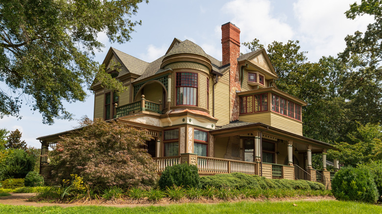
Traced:
POLYGON ((147 188, 156 183, 156 166, 146 150, 144 130, 127 124, 85 118, 80 130, 63 136, 53 150, 50 166, 57 181, 77 174, 88 185, 105 188, 147 188))

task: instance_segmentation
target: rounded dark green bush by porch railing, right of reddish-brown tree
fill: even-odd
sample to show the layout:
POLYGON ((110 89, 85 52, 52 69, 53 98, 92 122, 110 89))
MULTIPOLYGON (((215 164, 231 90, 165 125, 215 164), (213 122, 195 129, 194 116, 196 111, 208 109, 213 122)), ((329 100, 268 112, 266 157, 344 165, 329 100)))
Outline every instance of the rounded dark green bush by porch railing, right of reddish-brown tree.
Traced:
POLYGON ((165 190, 166 187, 184 186, 184 187, 199 187, 200 178, 198 167, 196 165, 178 164, 171 167, 166 167, 165 171, 158 181, 159 187, 165 190))

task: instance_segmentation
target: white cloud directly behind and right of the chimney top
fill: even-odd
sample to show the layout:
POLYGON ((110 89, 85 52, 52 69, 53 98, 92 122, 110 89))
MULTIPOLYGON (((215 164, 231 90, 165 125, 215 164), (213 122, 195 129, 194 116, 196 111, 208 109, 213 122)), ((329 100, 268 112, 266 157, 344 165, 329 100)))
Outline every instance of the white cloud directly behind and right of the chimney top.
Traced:
POLYGON ((286 16, 275 14, 272 9, 269 0, 233 0, 222 7, 222 11, 233 16, 232 23, 240 28, 241 43, 255 38, 266 44, 287 42, 293 38, 293 30, 285 22, 286 16))

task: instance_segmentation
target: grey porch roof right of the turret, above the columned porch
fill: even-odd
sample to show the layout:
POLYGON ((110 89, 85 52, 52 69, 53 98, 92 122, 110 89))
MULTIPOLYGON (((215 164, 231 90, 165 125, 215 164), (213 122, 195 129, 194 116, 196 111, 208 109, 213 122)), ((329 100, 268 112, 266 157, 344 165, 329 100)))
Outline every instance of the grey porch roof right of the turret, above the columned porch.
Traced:
POLYGON ((302 142, 310 145, 319 146, 320 148, 329 149, 329 150, 337 150, 333 147, 332 144, 325 143, 319 140, 314 140, 309 137, 305 137, 302 135, 298 135, 280 128, 275 128, 272 126, 268 126, 263 123, 253 123, 253 122, 243 122, 243 121, 234 121, 229 124, 226 124, 222 127, 216 127, 214 130, 211 130, 210 133, 216 137, 219 136, 232 136, 243 133, 252 133, 256 131, 263 131, 266 128, 268 130, 266 132, 273 132, 277 135, 282 135, 283 138, 288 138, 297 142, 302 142))

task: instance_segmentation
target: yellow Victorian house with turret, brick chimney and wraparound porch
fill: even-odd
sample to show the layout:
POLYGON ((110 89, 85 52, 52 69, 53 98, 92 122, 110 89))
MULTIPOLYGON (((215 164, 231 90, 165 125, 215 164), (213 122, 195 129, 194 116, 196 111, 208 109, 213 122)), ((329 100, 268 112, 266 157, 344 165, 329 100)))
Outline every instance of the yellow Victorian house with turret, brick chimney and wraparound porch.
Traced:
MULTIPOLYGON (((263 48, 240 55, 239 28, 228 22, 221 30, 221 62, 189 40, 174 39, 151 63, 111 47, 103 64, 127 90, 117 95, 95 83, 94 118, 147 129, 158 173, 188 162, 201 175, 243 172, 330 185, 325 152, 334 148, 303 136, 307 103, 277 89, 263 48), (323 171, 312 169, 312 153, 322 153, 323 171)), ((38 138, 42 154, 61 134, 38 138)), ((41 161, 46 174, 48 158, 41 161)))

